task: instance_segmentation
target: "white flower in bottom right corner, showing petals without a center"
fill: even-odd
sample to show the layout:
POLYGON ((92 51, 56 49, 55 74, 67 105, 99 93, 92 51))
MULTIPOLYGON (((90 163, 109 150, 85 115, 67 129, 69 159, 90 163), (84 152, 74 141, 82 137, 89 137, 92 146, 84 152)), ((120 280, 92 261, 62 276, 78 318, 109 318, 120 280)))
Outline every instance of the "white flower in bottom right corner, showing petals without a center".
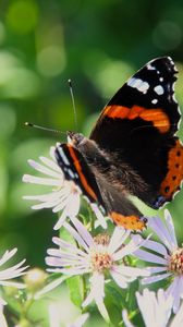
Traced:
MULTIPOLYGON (((136 299, 146 327, 183 326, 183 306, 170 324, 173 298, 171 295, 167 296, 162 289, 158 290, 157 295, 155 292, 145 289, 143 294, 136 292, 136 299)), ((122 316, 126 327, 134 327, 129 320, 125 310, 123 310, 122 316)))

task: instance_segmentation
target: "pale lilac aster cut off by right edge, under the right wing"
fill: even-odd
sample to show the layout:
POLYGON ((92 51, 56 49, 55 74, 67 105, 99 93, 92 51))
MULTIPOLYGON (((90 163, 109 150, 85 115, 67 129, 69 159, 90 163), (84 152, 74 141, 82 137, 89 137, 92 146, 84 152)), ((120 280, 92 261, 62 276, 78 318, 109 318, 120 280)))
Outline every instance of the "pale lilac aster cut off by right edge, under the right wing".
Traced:
MULTIPOLYGON (((148 226, 155 231, 163 244, 146 241, 145 250, 137 250, 135 255, 145 262, 152 263, 148 267, 151 276, 144 278, 144 284, 170 278, 166 294, 173 296, 173 312, 176 313, 183 299, 183 247, 179 247, 173 221, 168 210, 164 210, 164 223, 158 217, 149 219, 148 226)), ((135 239, 135 237, 134 237, 135 239)))

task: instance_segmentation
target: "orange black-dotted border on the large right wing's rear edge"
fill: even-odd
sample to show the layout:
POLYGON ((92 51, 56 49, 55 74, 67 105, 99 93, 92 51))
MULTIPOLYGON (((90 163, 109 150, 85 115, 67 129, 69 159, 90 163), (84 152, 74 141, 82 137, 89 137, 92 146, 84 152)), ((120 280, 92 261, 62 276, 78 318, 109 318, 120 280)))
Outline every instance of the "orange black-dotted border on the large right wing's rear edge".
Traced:
POLYGON ((168 173, 160 186, 160 194, 171 199, 173 194, 180 190, 183 180, 183 146, 178 140, 175 146, 169 152, 168 173))

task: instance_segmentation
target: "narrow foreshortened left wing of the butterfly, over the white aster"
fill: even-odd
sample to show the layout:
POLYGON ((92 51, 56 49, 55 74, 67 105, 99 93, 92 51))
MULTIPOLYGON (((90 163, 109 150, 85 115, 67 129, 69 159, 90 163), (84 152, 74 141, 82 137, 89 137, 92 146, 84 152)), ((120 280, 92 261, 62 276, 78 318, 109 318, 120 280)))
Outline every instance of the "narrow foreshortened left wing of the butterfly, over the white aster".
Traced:
POLYGON ((65 180, 73 181, 90 204, 101 206, 117 225, 125 229, 144 229, 146 220, 141 218, 142 214, 124 194, 119 194, 114 186, 94 175, 80 150, 70 144, 60 144, 54 155, 65 180))

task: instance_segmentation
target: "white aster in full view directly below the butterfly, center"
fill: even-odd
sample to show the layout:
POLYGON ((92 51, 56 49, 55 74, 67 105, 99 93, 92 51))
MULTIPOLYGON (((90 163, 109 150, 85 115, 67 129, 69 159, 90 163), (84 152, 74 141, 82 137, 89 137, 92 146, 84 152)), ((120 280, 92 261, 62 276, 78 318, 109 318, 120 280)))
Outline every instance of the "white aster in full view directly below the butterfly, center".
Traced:
MULTIPOLYGON (((46 263, 53 267, 49 268, 48 271, 63 274, 60 283, 63 281, 63 276, 65 278, 65 276, 88 274, 90 277, 90 291, 83 306, 87 306, 94 300, 103 318, 109 320, 103 303, 105 272, 109 272, 115 283, 123 289, 127 288, 129 282, 135 280, 138 276, 148 276, 146 269, 130 267, 125 263, 125 256, 141 246, 142 239, 130 240, 124 245, 130 231, 125 231, 120 227, 114 229, 111 238, 106 233, 93 238, 78 219, 74 218, 72 222, 74 227, 66 221, 63 226, 75 239, 80 249, 75 244, 53 238, 52 241, 59 249, 48 250, 49 256, 46 257, 46 263)), ((56 287, 56 283, 54 280, 52 288, 56 287)), ((50 286, 46 287, 47 291, 48 288, 49 290, 52 289, 50 286)))

